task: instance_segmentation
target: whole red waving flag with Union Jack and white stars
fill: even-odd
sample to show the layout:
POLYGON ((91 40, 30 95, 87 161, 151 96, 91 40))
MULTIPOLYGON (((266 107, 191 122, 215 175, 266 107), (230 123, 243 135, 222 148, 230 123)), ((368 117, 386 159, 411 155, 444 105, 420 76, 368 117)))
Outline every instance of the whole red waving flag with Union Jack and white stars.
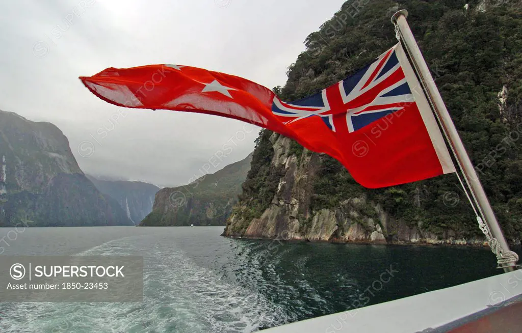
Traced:
POLYGON ((108 68, 80 77, 109 103, 250 122, 336 158, 368 188, 455 172, 400 44, 349 78, 285 103, 252 81, 181 65, 108 68))

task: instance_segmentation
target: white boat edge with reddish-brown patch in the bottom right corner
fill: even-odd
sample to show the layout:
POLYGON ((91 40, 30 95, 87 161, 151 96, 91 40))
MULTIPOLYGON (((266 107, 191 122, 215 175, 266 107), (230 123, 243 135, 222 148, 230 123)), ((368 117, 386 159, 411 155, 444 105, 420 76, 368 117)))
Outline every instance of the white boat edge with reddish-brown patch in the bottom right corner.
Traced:
POLYGON ((520 310, 522 270, 516 270, 464 285, 302 320, 266 332, 522 332, 520 310))

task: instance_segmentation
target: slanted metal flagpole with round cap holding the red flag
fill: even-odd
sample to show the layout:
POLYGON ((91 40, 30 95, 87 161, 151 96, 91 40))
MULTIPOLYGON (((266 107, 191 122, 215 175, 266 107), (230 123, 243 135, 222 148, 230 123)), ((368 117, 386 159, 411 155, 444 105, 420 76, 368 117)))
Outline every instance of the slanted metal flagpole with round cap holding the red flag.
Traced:
MULTIPOLYGON (((392 17, 392 22, 395 24, 396 29, 401 37, 402 42, 404 42, 407 50, 406 52, 410 55, 411 60, 414 66, 418 70, 418 74, 420 79, 425 84, 426 94, 431 99, 431 102, 434 106, 434 111, 438 115, 441 120, 441 125, 443 130, 447 134, 447 138, 449 144, 452 146, 453 151, 455 153, 455 157, 457 158, 460 166, 462 168, 462 172, 464 174, 467 183, 469 184, 470 190, 473 194, 473 197, 476 198, 477 204, 479 206, 480 212, 483 214, 485 219, 485 223, 491 230, 492 236, 496 238, 497 242, 502 249, 501 252, 509 253, 509 246, 507 245, 506 239, 504 238, 504 234, 502 233, 502 229, 499 225, 495 217, 495 213, 491 208, 491 204, 488 200, 488 196, 485 194, 484 189, 482 188, 482 184, 480 183, 477 172, 473 168, 471 160, 466 152, 464 144, 460 140, 457 129, 455 128, 455 124, 453 123, 452 118, 449 116, 448 110, 446 109, 446 105, 442 100, 442 96, 435 85, 435 81, 431 76, 428 65, 422 56, 422 53, 413 37, 413 33, 410 30, 408 22, 406 18, 408 16, 408 11, 399 10, 392 17)), ((479 221, 480 223, 480 221, 479 221)), ((490 244, 491 245, 491 244, 490 244)), ((503 268, 505 272, 511 272, 514 270, 516 265, 516 260, 513 262, 505 263, 503 268)))

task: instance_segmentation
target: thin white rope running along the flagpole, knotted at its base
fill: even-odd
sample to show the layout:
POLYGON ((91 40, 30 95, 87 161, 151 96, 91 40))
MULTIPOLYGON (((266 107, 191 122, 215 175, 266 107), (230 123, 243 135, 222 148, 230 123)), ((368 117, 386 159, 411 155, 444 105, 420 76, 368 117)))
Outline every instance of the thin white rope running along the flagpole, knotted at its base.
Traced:
MULTIPOLYGON (((399 26, 396 22, 394 22, 394 26, 395 26, 395 38, 397 38, 397 40, 399 42, 401 42, 402 35, 400 33, 399 26)), ((419 75, 419 69, 417 68, 416 64, 413 63, 412 65, 414 67, 414 70, 416 70, 417 74, 419 75)), ((419 76, 419 78, 421 78, 421 77, 419 76)), ((420 79, 419 81, 420 81, 421 85, 423 86, 423 90, 427 91, 423 80, 420 79)), ((434 109, 435 105, 433 104, 433 101, 431 100, 430 95, 426 94, 426 97, 428 97, 426 99, 430 103, 430 106, 432 107, 432 109, 434 109)), ((438 113, 436 113, 436 112, 433 112, 433 114, 435 114, 438 124, 442 124, 442 119, 441 119, 440 115, 438 115, 438 113)), ((444 134, 444 137, 446 138, 446 141, 449 142, 448 134, 444 130, 444 127, 442 127, 442 128, 443 128, 442 132, 444 134)), ((449 147, 452 150, 453 156, 457 156, 454 147, 451 144, 449 145, 449 147)), ((462 167, 459 159, 455 158, 455 161, 457 162, 460 172, 462 172, 462 175, 464 175, 465 174, 464 168, 462 167)), ((488 244, 491 248, 491 252, 493 252, 496 255, 497 268, 504 268, 504 267, 510 266, 509 264, 517 263, 518 254, 514 251, 504 251, 502 249, 502 246, 499 244, 499 241, 495 237, 493 237, 488 225, 484 223, 484 220, 483 220, 484 213, 482 212, 482 209, 480 209, 480 205, 479 205, 477 198, 474 195, 473 191, 471 191, 471 196, 473 197, 474 204, 473 204, 473 201, 471 200, 471 196, 469 195, 468 190, 464 186, 464 182, 462 182, 462 179, 460 178, 459 173, 455 172, 455 174, 457 175, 457 179, 460 182, 460 186, 462 187, 462 190, 466 194, 466 198, 468 198, 469 204, 471 205, 471 208, 473 209, 473 212, 475 213, 477 222, 479 224, 479 229, 482 231, 482 233, 488 240, 488 244), (477 209, 478 209, 478 212, 477 212, 477 209), (480 213, 480 215, 479 215, 479 213, 480 213)), ((471 188, 469 181, 466 177, 465 177, 465 181, 466 181, 466 184, 468 185, 468 187, 471 188)))

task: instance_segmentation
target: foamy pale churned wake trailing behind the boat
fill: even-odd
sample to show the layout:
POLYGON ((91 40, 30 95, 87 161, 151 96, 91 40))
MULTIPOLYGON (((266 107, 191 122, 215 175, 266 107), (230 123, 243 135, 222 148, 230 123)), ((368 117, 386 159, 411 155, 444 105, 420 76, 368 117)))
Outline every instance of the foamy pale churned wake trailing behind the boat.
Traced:
POLYGON ((283 311, 264 295, 225 281, 174 244, 113 240, 79 255, 144 255, 142 303, 2 303, 8 332, 252 332, 275 326, 283 311), (141 250, 139 250, 141 249, 141 250))

